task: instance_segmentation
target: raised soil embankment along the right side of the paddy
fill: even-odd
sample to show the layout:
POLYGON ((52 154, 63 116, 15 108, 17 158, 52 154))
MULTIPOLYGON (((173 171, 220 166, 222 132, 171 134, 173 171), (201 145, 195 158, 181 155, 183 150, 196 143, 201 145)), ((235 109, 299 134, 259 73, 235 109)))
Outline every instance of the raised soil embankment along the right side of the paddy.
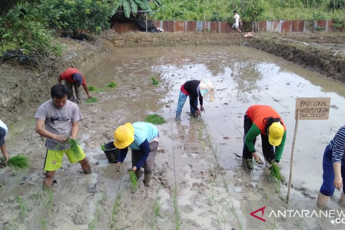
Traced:
POLYGON ((345 83, 345 36, 261 34, 247 42, 250 47, 345 83))

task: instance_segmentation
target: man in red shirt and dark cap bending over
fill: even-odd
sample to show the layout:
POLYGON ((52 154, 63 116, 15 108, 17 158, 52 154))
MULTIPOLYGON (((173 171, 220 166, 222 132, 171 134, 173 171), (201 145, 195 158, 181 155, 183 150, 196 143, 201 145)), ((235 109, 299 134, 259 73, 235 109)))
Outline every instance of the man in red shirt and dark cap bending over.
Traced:
POLYGON ((61 80, 65 80, 65 85, 68 88, 68 91, 69 91, 68 100, 75 101, 75 98, 73 95, 73 86, 74 86, 74 90, 76 91, 77 102, 79 103, 79 101, 80 101, 80 95, 79 95, 80 85, 83 86, 87 96, 89 98, 91 98, 91 95, 89 93, 89 90, 88 90, 86 82, 85 82, 85 78, 84 78, 83 74, 79 70, 77 70, 76 68, 68 68, 67 70, 62 72, 58 78, 59 84, 61 84, 61 80))

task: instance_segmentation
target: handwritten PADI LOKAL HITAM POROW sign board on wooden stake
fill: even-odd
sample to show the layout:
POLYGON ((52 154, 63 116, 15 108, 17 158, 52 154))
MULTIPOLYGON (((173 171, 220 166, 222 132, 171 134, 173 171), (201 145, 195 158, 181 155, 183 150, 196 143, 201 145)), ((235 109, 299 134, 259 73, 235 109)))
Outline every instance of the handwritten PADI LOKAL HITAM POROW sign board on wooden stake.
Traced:
POLYGON ((299 120, 327 120, 331 98, 297 98, 299 120))

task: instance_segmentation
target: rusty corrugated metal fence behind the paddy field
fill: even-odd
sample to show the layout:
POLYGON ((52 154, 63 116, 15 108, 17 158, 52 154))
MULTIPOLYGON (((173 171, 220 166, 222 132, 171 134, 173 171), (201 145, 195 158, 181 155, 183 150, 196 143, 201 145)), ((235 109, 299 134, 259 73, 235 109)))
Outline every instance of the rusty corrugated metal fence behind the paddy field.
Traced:
MULTIPOLYGON (((333 20, 275 20, 260 21, 254 23, 254 32, 335 32, 333 20)), ((228 22, 208 21, 152 21, 155 27, 162 28, 165 32, 203 32, 228 33, 231 32, 231 24, 228 22)), ((138 31, 135 22, 118 23, 113 26, 116 32, 138 31)), ((251 30, 251 29, 250 29, 251 30)))

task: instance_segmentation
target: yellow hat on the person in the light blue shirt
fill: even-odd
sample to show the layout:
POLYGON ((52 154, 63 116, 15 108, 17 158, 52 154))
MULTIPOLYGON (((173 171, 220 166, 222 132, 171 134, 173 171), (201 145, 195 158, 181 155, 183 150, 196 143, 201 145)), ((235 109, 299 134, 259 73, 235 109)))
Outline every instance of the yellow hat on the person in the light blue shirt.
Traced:
POLYGON ((131 123, 119 126, 114 132, 114 146, 118 149, 128 147, 134 141, 134 129, 131 123))

